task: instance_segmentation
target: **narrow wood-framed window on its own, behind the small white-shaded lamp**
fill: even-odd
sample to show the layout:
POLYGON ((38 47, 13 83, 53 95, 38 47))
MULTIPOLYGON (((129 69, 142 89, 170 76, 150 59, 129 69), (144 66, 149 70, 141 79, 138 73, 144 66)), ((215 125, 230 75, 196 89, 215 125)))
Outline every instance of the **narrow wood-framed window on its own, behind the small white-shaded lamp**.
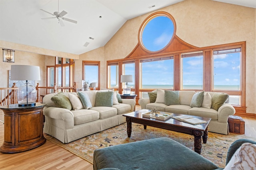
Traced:
MULTIPOLYGON (((83 80, 89 83, 98 83, 100 88, 100 61, 83 61, 83 80)), ((90 87, 92 90, 93 88, 90 87)))

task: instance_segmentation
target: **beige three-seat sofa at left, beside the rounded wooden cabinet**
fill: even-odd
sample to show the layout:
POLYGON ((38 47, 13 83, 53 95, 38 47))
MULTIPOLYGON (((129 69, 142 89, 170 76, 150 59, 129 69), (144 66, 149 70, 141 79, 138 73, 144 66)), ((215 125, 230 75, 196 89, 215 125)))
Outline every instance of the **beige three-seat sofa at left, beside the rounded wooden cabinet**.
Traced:
MULTIPOLYGON (((71 110, 56 107, 56 103, 51 98, 58 93, 44 96, 43 102, 46 104, 44 107, 44 133, 52 135, 62 143, 69 143, 126 122, 125 117, 122 115, 132 112, 136 101, 133 99, 122 99, 122 103, 113 104, 112 107, 96 107, 97 92, 102 92, 102 90, 82 92, 90 99, 92 107, 88 109, 84 109, 84 107, 79 108, 80 98, 78 98, 75 92, 64 93, 72 104, 71 110), (74 109, 74 107, 76 108, 74 109)), ((109 102, 109 99, 105 100, 109 102)))

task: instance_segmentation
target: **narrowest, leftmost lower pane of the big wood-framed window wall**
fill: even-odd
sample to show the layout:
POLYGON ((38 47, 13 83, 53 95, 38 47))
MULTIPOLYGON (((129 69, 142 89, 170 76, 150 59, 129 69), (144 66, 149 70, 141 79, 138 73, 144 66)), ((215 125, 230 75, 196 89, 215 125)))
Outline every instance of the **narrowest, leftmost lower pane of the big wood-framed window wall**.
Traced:
POLYGON ((108 64, 108 88, 118 88, 118 63, 108 64))

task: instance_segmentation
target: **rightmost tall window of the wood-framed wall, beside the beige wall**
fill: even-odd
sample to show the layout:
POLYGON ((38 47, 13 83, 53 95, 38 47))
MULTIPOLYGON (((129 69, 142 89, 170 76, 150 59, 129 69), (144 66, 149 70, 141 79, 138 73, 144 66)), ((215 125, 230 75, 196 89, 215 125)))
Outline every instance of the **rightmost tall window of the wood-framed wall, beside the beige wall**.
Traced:
MULTIPOLYGON (((213 90, 241 90, 241 48, 213 51, 213 90)), ((230 95, 230 104, 240 105, 240 95, 230 95)))

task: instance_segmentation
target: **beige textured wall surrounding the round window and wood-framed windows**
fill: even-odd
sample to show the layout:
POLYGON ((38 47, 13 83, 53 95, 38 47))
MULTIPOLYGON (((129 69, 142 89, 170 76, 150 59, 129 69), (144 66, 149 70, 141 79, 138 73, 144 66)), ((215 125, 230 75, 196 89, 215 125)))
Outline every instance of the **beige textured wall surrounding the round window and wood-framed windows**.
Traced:
MULTIPOLYGON (((158 11, 168 12, 174 17, 176 35, 191 45, 207 47, 246 41, 246 112, 256 113, 256 105, 254 104, 256 99, 256 90, 254 90, 256 84, 256 9, 212 0, 185 0, 158 11)), ((77 87, 81 88, 82 61, 100 61, 100 88, 106 88, 106 61, 123 59, 132 52, 138 43, 140 25, 146 17, 154 12, 126 21, 104 47, 81 54, 79 57, 70 54, 56 55, 58 52, 34 49, 34 47, 30 46, 25 46, 26 48, 18 46, 21 51, 26 49, 31 53, 26 55, 27 53, 16 51, 15 64, 23 64, 23 61, 18 60, 19 54, 26 55, 26 57, 29 57, 26 62, 39 65, 40 68, 43 68, 45 75, 45 63, 49 64, 47 60, 51 58, 44 55, 65 56, 64 58, 76 59, 75 82, 77 87), (43 55, 34 54, 36 50, 43 55), (41 60, 42 63, 40 62, 41 60), (46 61, 43 62, 43 60, 46 61)), ((16 44, 0 41, 0 47, 15 49, 11 47, 16 47, 16 44)), ((8 75, 6 74, 7 70, 10 70, 10 65, 10 63, 0 62, 0 74, 4 77, 3 79, 1 78, 0 87, 5 87, 8 84, 6 82, 8 75)), ((41 77, 41 82, 45 82, 45 77, 46 75, 41 77)))

